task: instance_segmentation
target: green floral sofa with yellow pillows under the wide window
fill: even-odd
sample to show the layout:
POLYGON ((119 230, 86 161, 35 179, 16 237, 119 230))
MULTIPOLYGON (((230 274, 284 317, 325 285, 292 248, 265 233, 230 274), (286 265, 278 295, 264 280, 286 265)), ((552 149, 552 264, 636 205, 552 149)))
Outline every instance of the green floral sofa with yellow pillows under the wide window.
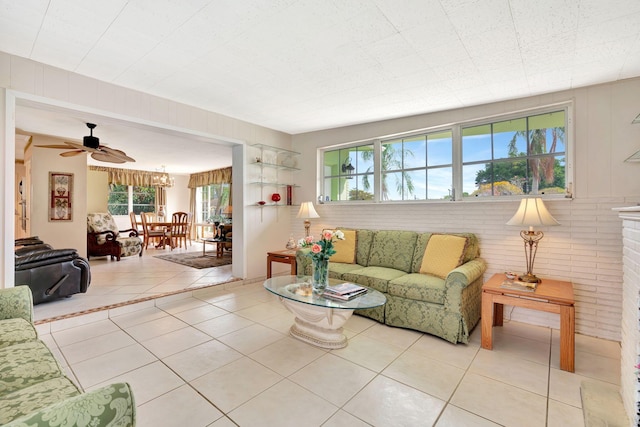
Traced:
MULTIPOLYGON (((342 241, 336 242, 334 256, 341 262, 330 260, 329 277, 368 286, 387 297, 384 306, 357 314, 468 343, 480 320, 487 268, 474 234, 340 229, 346 240, 342 248, 337 246, 342 241)), ((298 275, 312 273, 308 254, 309 249, 296 253, 298 275)))

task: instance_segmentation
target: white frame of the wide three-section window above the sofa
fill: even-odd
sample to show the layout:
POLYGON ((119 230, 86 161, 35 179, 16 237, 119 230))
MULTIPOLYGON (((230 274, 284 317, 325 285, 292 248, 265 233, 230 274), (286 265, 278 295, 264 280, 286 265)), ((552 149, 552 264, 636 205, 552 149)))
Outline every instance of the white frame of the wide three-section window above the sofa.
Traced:
MULTIPOLYGON (((492 116, 486 116, 481 118, 476 118, 467 121, 460 121, 455 123, 448 123, 446 125, 433 126, 429 128, 419 129, 410 132, 402 132, 393 135, 386 135, 384 137, 372 138, 368 140, 360 140, 356 142, 350 142, 346 144, 340 145, 332 145, 327 147, 322 147, 318 150, 319 152, 319 177, 320 177, 320 195, 318 199, 323 199, 323 202, 327 203, 442 203, 442 202, 480 202, 480 201, 499 201, 499 200, 513 200, 513 199, 521 199, 522 197, 542 197, 545 199, 554 199, 554 198, 573 198, 573 188, 574 188, 574 138, 573 138, 573 102, 561 102, 557 104, 550 104, 542 107, 513 111, 506 114, 498 114, 492 116), (463 129, 481 126, 481 125, 492 125, 504 121, 509 120, 517 120, 517 119, 529 119, 531 117, 542 115, 545 113, 553 113, 558 111, 564 111, 565 117, 565 128, 564 128, 564 173, 565 173, 565 182, 564 182, 564 192, 562 193, 553 193, 548 194, 539 191, 538 194, 527 193, 527 194, 518 194, 518 195, 489 195, 483 197, 469 197, 463 195, 463 142, 462 142, 462 133, 463 129), (381 168, 381 147, 382 144, 389 141, 401 140, 401 139, 409 139, 417 136, 427 136, 429 134, 440 133, 450 131, 452 135, 452 183, 451 183, 451 197, 448 199, 404 199, 404 200, 382 200, 381 197, 381 188, 382 188, 382 168, 381 168), (372 200, 327 200, 326 195, 331 194, 330 189, 326 188, 327 179, 330 177, 334 177, 333 175, 325 175, 325 153, 336 150, 345 150, 350 148, 362 147, 373 145, 374 147, 374 166, 373 166, 373 194, 374 197, 372 200)), ((531 159, 536 157, 535 155, 527 155, 524 157, 519 157, 519 159, 531 159)), ((557 157, 557 156, 555 156, 557 157)), ((428 170, 428 166, 426 169, 428 170)), ((409 170, 409 169, 407 169, 409 170)), ((425 183, 427 182, 425 178, 425 183)), ((428 194, 428 187, 427 187, 428 194)))

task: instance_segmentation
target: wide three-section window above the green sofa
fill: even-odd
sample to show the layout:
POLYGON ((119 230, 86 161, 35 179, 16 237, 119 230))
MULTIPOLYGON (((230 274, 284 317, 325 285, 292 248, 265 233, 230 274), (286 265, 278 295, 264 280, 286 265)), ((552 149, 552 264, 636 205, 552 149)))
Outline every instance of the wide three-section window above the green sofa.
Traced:
POLYGON ((331 201, 565 194, 566 108, 376 140, 323 153, 331 201))

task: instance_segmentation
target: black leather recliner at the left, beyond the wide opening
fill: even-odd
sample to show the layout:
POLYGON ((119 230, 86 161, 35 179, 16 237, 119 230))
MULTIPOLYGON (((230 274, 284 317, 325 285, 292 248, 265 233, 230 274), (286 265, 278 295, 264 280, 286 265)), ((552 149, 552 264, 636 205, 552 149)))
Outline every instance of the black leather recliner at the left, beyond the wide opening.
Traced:
POLYGON ((31 288, 34 305, 87 292, 90 283, 89 262, 75 249, 41 243, 15 251, 15 285, 31 288))

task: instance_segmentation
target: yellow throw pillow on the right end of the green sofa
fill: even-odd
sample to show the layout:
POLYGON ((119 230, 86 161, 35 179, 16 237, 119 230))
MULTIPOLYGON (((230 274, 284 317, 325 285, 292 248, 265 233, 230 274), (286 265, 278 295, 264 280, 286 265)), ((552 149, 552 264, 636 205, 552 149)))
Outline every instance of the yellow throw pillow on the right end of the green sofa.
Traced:
POLYGON ((434 234, 424 250, 420 273, 432 274, 442 279, 462 264, 467 239, 448 234, 434 234))

